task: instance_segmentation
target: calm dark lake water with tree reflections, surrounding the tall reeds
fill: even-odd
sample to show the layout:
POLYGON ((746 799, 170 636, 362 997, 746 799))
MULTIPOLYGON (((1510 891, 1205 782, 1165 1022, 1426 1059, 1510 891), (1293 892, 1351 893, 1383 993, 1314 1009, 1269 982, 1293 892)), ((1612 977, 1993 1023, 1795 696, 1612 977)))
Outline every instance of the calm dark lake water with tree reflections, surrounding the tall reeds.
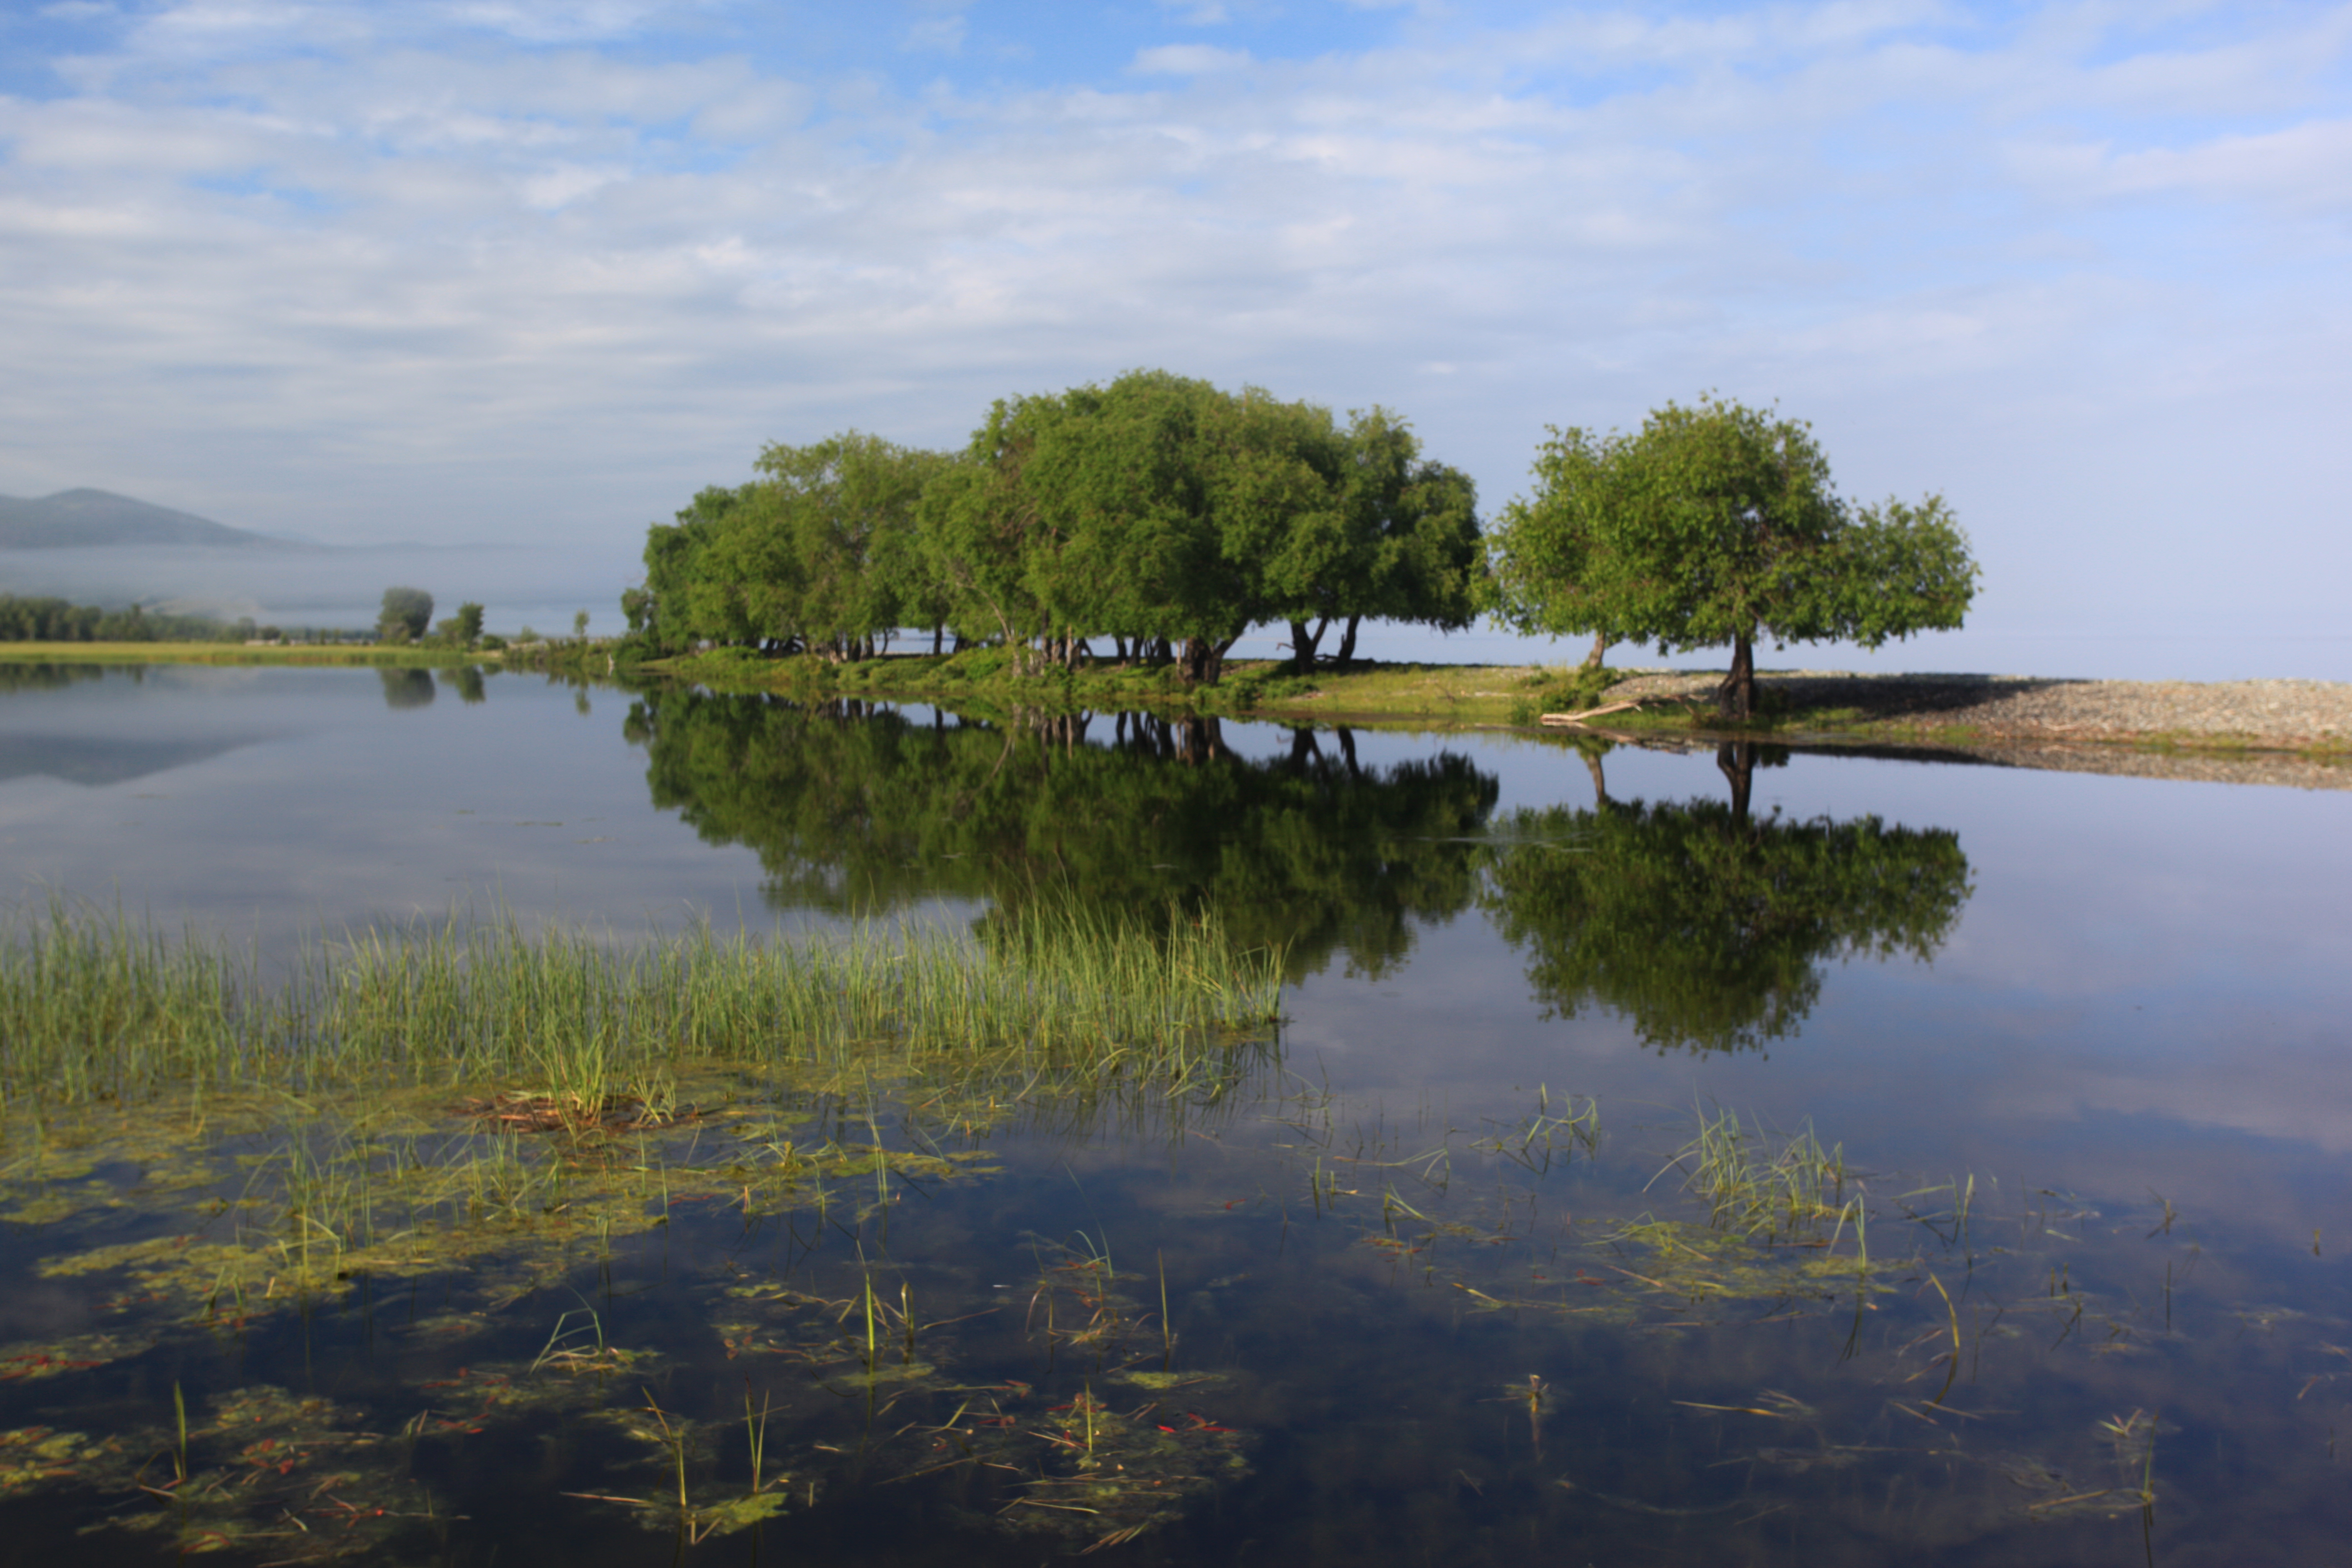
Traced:
POLYGON ((12 679, 0 856, 35 907, 275 952, 452 907, 626 933, 1077 891, 1214 907, 1294 980, 1214 1100, 910 1088, 866 1121, 746 1084, 802 1147, 941 1164, 734 1199, 713 1121, 574 1173, 661 1225, 541 1204, 506 1253, 292 1302, 56 1267, 221 1234, 261 1124, 209 1185, 134 1131, 71 1180, 16 1135, 12 1561, 2340 1561, 2347 795, 12 679), (1686 1190, 1724 1114, 1757 1166, 1839 1147, 1837 1218, 1686 1190), (52 1187, 80 1197, 31 1208, 52 1187), (720 1528, 753 1436, 764 1519, 720 1528))

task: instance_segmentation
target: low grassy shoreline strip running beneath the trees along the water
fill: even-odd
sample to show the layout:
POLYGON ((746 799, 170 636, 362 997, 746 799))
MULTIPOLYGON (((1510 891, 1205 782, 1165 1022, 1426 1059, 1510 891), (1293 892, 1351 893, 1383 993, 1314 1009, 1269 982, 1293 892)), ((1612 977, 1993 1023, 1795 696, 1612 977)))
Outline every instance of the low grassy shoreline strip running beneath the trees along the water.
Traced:
MULTIPOLYGON (((193 665, 482 665, 602 677, 616 672, 602 642, 546 644, 508 656, 433 646, 223 646, 205 642, 16 642, 0 644, 0 663, 193 663, 193 665)), ((1588 712, 1613 701, 1642 708, 1588 719, 1564 733, 1649 741, 1771 741, 1778 745, 1933 748, 1985 752, 2018 745, 2070 745, 2114 752, 2187 757, 2272 755, 2321 764, 2352 762, 2352 738, 2246 729, 2145 724, 2082 733, 2077 729, 1983 724, 1943 717, 1938 703, 1903 710, 1889 693, 1926 686, 1999 696, 2009 686, 2117 686, 2126 682, 2039 682, 1947 675, 1823 675, 1759 670, 1764 710, 1745 724, 1724 722, 1693 693, 1712 670, 1618 668, 1609 682, 1578 684, 1573 665, 1439 665, 1362 663, 1348 672, 1301 677, 1279 661, 1235 661, 1216 686, 1185 689, 1169 668, 1091 665, 1016 675, 1002 649, 955 656, 889 654, 858 663, 762 658, 717 649, 647 661, 635 675, 687 679, 710 691, 774 693, 800 701, 941 703, 962 712, 1009 717, 1021 712, 1152 710, 1197 717, 1251 717, 1364 729, 1524 729, 1543 712, 1588 712)), ((2234 682, 2166 682, 2164 689, 2211 691, 2234 682)), ((1947 708, 1950 703, 1943 703, 1947 708)), ((1562 733, 1562 731, 1552 731, 1562 733)))

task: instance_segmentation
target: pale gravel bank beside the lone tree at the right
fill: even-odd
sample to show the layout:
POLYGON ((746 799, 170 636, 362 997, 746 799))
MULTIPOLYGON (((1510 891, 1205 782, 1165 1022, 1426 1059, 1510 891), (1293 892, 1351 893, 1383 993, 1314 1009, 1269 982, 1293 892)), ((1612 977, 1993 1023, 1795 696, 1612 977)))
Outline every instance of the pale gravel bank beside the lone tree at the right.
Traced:
MULTIPOLYGON (((1611 686, 1609 701, 1712 701, 1717 679, 1642 672, 1611 686)), ((1778 743, 1893 743, 2082 773, 2352 788, 2347 682, 1773 670, 1759 672, 1757 684, 1766 705, 1820 715, 1816 726, 1783 729, 1778 743)), ((1606 719, 1595 724, 1602 726, 1606 719)))

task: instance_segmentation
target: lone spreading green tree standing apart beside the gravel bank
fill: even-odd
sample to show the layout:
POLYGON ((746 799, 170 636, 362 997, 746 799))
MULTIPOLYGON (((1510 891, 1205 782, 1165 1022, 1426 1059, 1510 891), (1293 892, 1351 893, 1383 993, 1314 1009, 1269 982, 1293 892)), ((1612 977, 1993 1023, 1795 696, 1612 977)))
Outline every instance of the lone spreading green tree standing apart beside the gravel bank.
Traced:
POLYGON ((1879 646, 1957 628, 1978 578, 1940 496, 1853 508, 1804 421, 1712 395, 1632 435, 1555 430, 1494 557, 1494 607, 1519 630, 1729 642, 1726 717, 1755 712, 1757 637, 1879 646))

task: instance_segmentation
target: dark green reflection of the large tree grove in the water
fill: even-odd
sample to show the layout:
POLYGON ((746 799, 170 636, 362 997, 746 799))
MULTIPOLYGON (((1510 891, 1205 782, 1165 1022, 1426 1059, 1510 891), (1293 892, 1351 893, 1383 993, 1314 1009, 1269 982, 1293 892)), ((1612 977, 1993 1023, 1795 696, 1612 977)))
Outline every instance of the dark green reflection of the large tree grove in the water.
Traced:
POLYGON ((1018 907, 1042 889, 1162 919, 1216 907, 1284 943, 1291 976, 1345 952, 1385 973, 1414 922, 1475 900, 1498 785, 1458 752, 1364 766, 1350 731, 1247 759, 1216 719, 913 722, 858 703, 654 691, 628 717, 656 806, 746 844, 786 907, 870 914, 917 898, 1018 907))

